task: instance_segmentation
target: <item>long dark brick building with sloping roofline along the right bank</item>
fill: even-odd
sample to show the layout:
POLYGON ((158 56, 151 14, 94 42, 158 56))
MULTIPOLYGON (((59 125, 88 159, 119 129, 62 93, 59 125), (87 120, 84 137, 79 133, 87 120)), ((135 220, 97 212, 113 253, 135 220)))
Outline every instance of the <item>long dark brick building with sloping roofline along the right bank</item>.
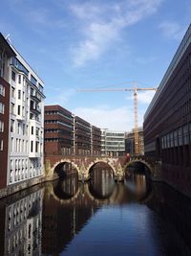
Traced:
POLYGON ((145 155, 162 179, 191 196, 191 26, 144 116, 145 155))

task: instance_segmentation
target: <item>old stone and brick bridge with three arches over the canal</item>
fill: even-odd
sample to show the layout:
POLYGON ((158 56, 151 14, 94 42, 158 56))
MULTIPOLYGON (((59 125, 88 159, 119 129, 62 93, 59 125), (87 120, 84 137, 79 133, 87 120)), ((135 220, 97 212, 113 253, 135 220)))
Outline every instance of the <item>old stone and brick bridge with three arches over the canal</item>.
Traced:
POLYGON ((86 181, 90 178, 90 170, 96 163, 105 163, 111 167, 117 180, 123 180, 125 171, 133 163, 141 163, 147 167, 151 179, 159 180, 159 163, 151 163, 143 155, 127 156, 82 156, 82 155, 47 155, 45 156, 45 174, 52 179, 55 169, 62 167, 65 163, 71 164, 77 171, 78 179, 86 181))

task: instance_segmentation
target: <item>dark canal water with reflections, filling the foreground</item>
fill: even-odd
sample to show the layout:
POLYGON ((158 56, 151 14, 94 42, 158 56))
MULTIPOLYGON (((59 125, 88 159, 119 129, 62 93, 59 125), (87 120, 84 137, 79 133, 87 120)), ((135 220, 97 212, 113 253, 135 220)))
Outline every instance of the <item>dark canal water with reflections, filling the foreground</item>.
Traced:
POLYGON ((0 255, 191 255, 191 202, 142 172, 95 168, 0 200, 0 255))

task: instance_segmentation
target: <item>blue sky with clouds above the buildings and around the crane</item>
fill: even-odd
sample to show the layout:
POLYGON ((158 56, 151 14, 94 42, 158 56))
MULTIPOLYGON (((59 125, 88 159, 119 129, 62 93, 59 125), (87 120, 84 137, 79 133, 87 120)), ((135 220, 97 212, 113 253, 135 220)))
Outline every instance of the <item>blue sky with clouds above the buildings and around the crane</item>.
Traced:
MULTIPOLYGON (((58 104, 100 128, 134 126, 128 92, 78 88, 157 86, 190 23, 191 0, 1 0, 0 31, 58 104)), ((138 125, 153 97, 138 93, 138 125)))

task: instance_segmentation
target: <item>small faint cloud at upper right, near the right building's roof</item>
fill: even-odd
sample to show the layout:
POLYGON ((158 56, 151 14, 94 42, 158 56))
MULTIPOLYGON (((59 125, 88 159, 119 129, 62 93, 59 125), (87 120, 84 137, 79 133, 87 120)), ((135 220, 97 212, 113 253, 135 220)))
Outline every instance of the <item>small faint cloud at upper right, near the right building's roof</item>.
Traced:
POLYGON ((185 33, 185 27, 175 21, 163 21, 159 25, 159 29, 164 36, 176 40, 180 40, 185 33))

